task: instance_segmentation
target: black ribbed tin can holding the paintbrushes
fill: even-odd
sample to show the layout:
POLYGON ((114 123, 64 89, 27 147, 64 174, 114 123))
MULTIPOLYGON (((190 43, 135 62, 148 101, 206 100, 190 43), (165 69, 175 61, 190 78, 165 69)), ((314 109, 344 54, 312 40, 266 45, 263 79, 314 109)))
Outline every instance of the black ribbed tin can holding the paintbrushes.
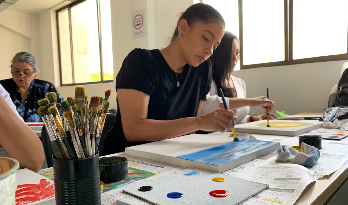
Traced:
POLYGON ((53 159, 56 205, 101 205, 99 152, 82 159, 53 159))

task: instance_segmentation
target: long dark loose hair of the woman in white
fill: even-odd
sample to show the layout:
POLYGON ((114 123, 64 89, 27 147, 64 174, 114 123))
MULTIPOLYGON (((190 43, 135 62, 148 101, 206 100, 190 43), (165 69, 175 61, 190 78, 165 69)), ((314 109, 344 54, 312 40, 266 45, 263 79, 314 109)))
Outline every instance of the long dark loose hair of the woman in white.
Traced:
MULTIPOLYGON (((231 32, 226 31, 221 39, 221 43, 217 46, 213 55, 210 56, 213 70, 213 80, 216 83, 217 89, 221 88, 225 97, 235 96, 235 90, 226 83, 229 79, 232 68, 232 42, 237 38, 231 32)), ((238 38, 237 38, 238 39, 238 38)))

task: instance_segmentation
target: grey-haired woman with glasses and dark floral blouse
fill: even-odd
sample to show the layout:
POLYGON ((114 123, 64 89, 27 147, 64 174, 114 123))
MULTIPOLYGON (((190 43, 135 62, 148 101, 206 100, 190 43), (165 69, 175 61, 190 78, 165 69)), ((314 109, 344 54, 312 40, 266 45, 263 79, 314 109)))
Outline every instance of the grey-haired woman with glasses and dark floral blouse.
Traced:
POLYGON ((28 52, 19 52, 11 61, 12 78, 0 81, 25 122, 41 122, 37 113, 37 101, 45 98, 45 94, 55 92, 58 96, 57 102, 63 100, 52 83, 35 79, 37 72, 35 57, 28 52))

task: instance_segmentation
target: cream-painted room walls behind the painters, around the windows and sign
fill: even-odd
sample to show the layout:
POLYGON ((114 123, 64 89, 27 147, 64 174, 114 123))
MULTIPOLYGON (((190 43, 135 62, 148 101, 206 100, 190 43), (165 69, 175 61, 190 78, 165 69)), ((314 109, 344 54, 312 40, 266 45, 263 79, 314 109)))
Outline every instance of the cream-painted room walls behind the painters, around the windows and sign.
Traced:
MULTIPOLYGON (((192 3, 193 0, 111 0, 114 77, 124 58, 134 48, 153 49, 168 45, 178 14, 192 3), (140 9, 144 9, 145 13, 145 37, 133 39, 132 12, 140 9)), ((55 11, 46 10, 39 15, 4 12, 0 13, 0 37, 6 36, 9 40, 0 47, 0 79, 8 77, 9 61, 18 52, 10 49, 14 49, 15 42, 18 42, 21 47, 17 50, 28 49, 35 53, 41 69, 38 78, 54 83, 64 98, 74 96, 74 86, 60 87, 55 11), (11 16, 14 22, 8 22, 11 20, 4 18, 3 14, 11 16), (27 25, 31 25, 30 28, 27 25), (8 26, 11 26, 10 30, 8 26), (7 28, 5 31, 4 27, 7 28), (12 34, 8 35, 8 32, 12 34), (7 77, 3 77, 5 74, 7 77)), ((322 112, 327 107, 332 86, 340 78, 343 62, 254 68, 236 71, 234 75, 246 82, 248 97, 266 95, 266 88, 270 88, 270 99, 276 102, 276 110, 289 114, 322 112)), ((112 89, 110 107, 117 107, 115 82, 85 86, 89 97, 103 96, 105 90, 112 89)), ((250 114, 261 113, 260 108, 251 108, 250 114)))

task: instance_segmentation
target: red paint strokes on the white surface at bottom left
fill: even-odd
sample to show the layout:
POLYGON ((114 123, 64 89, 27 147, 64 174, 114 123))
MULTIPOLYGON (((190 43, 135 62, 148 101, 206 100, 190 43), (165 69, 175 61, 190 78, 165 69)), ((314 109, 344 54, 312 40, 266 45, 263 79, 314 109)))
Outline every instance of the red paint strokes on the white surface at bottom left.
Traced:
POLYGON ((39 184, 22 184, 17 186, 16 205, 31 204, 53 198, 54 196, 54 183, 48 179, 41 179, 39 184))

